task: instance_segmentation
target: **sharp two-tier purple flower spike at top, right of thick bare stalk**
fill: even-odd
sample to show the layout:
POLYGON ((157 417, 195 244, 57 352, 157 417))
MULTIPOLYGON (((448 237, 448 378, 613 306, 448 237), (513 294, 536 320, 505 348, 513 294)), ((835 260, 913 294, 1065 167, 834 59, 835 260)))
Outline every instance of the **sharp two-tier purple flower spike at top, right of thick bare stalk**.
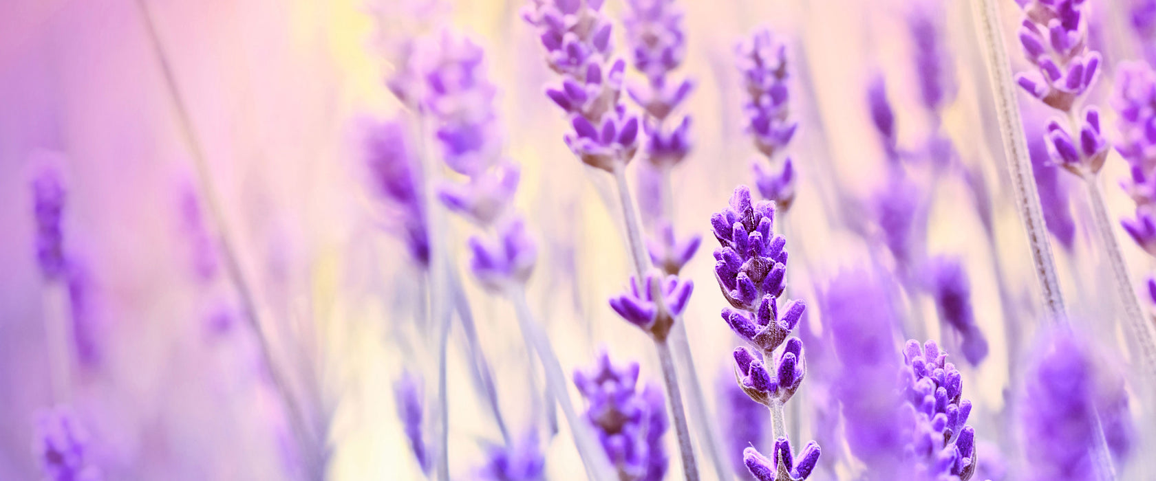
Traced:
MULTIPOLYGON (((1061 112, 1073 112, 1076 99, 1096 81, 1098 52, 1088 48, 1085 0, 1030 0, 1022 2, 1025 18, 1020 45, 1038 72, 1021 73, 1016 82, 1032 97, 1061 112)), ((1107 155, 1101 135, 1099 112, 1084 110, 1073 135, 1059 121, 1047 125, 1045 138, 1052 161, 1076 175, 1099 172, 1107 155), (1079 140, 1077 140, 1079 137, 1079 140)))

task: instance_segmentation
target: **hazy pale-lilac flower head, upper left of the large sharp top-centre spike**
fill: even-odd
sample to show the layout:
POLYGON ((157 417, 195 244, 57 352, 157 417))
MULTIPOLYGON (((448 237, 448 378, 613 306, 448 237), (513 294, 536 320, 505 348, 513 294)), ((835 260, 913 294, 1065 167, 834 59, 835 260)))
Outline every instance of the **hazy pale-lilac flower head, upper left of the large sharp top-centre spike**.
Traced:
POLYGON ((436 50, 428 55, 432 65, 423 69, 423 105, 436 120, 446 165, 473 176, 494 165, 502 150, 494 111, 497 89, 486 77, 484 52, 469 39, 443 32, 436 50))

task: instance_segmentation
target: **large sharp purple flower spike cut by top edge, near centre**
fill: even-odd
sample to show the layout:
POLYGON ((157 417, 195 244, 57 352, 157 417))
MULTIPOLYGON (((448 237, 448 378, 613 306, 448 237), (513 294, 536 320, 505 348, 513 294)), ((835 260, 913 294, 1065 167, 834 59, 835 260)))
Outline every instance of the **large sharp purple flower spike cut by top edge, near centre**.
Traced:
POLYGON ((570 117, 566 145, 587 165, 613 171, 638 150, 638 118, 621 102, 625 61, 610 62, 612 23, 602 0, 532 0, 523 13, 562 76, 547 96, 570 117))

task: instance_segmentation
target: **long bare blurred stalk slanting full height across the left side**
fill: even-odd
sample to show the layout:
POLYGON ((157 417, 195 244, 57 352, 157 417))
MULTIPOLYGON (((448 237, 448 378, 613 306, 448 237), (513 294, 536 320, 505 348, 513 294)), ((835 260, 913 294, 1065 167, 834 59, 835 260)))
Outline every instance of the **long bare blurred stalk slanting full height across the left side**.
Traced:
POLYGON ((224 223, 224 215, 222 213, 222 209, 216 200, 212 176, 209 175, 208 165, 205 160, 205 152, 201 150, 200 142, 197 138, 192 118, 185 106, 184 97, 180 95, 180 89, 177 85, 177 78, 172 72, 172 67, 169 65, 168 54, 164 51, 164 46, 161 44, 161 37, 157 32, 156 24, 153 21, 153 15, 144 0, 136 0, 136 7, 140 10, 141 20, 143 21, 144 29, 148 32, 149 43, 153 45, 153 51, 157 57, 165 89, 168 90, 169 97, 173 104, 173 110, 176 111, 178 127, 185 137, 185 143, 192 155, 193 164, 197 170, 197 178, 200 183, 200 190, 203 193, 209 216, 217 226, 217 238, 222 257, 224 258, 225 271, 229 273, 229 277, 237 290, 238 298, 240 298, 242 313, 245 321, 249 322, 250 328, 257 332, 261 359, 265 362, 265 366, 268 367, 273 385, 289 412, 289 424, 294 431, 294 437, 301 446, 302 456, 305 459, 305 472, 313 479, 320 479, 323 475, 321 472, 324 471, 324 466, 321 466, 323 458, 319 456, 320 449, 319 446, 314 446, 314 435, 309 429, 306 415, 294 397, 292 391, 289 389, 284 374, 281 373, 277 364, 274 362, 273 350, 269 345, 269 336, 264 329, 264 323, 258 317, 257 302, 254 301, 250 284, 246 281, 244 272, 240 269, 236 249, 234 248, 229 230, 224 223))

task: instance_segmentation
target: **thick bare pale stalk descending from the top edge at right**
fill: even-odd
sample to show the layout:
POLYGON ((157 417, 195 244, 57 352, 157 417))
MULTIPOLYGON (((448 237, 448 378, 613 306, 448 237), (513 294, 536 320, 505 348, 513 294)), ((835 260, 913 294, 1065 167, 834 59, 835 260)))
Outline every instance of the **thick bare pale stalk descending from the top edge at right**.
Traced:
POLYGON ((1055 275, 1055 260, 1047 242, 1047 231, 1044 227, 1043 206, 1036 191, 1036 179, 1031 173, 1031 160, 1028 158, 1028 141, 1023 134, 1023 122, 1020 120, 1020 105, 1016 103, 1015 88, 1011 80, 1011 63, 1008 60, 1007 47, 1000 32, 1000 15, 995 0, 978 0, 971 2, 975 13, 976 31, 984 44, 987 61, 988 81, 995 99, 995 113, 999 119, 1000 134, 1003 141, 1003 153, 1008 163, 1008 174, 1015 189, 1016 208, 1028 232, 1028 243, 1031 249, 1036 277, 1039 280, 1040 293, 1044 296, 1044 309, 1048 321, 1066 322, 1064 298, 1060 294, 1060 281, 1055 275))

